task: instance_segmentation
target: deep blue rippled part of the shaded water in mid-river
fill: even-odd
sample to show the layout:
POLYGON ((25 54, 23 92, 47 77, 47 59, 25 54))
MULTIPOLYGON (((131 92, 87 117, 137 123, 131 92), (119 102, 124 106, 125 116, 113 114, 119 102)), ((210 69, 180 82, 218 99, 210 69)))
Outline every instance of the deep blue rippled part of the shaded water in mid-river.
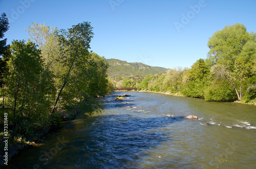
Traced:
POLYGON ((93 119, 84 135, 82 155, 78 168, 136 167, 150 149, 170 140, 164 128, 180 122, 184 117, 139 118, 132 115, 103 115, 93 119))

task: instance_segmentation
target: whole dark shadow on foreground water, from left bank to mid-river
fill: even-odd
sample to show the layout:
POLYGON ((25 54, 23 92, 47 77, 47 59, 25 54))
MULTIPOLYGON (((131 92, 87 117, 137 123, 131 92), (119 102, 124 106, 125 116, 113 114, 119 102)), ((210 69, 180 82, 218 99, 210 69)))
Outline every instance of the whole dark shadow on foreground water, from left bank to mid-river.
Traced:
POLYGON ((15 158, 11 168, 130 168, 139 167, 142 158, 165 141, 172 140, 170 124, 181 122, 179 117, 140 118, 133 115, 99 115, 85 123, 75 120, 70 129, 53 133, 49 143, 36 147, 15 158), (166 127, 166 128, 165 128, 166 127), (55 148, 58 138, 66 146, 47 162, 45 152, 55 148), (40 160, 41 159, 41 160, 40 160), (47 162, 47 163, 46 163, 47 162), (46 163, 46 164, 45 164, 46 163))

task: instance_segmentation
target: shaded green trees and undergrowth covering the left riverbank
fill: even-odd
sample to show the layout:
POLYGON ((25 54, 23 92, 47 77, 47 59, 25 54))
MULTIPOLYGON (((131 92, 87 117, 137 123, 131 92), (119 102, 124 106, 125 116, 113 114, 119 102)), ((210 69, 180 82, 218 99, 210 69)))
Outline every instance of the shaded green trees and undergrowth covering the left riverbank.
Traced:
MULTIPOLYGON (((8 28, 3 13, 0 38, 8 28)), ((92 29, 90 22, 68 30, 33 23, 26 30, 28 41, 14 40, 11 45, 1 41, 0 124, 2 132, 8 114, 6 137, 33 135, 46 126, 60 125, 61 118, 78 112, 91 115, 100 108, 93 98, 111 92, 113 86, 105 58, 89 51, 92 29)))

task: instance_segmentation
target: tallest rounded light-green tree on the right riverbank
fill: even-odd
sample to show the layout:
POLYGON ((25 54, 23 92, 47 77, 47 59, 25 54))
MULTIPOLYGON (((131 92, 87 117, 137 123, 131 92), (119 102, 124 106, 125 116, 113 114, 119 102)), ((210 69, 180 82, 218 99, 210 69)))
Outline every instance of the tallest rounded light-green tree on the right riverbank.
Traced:
POLYGON ((255 43, 243 24, 226 26, 208 41, 211 71, 225 77, 242 100, 246 80, 254 73, 255 43))

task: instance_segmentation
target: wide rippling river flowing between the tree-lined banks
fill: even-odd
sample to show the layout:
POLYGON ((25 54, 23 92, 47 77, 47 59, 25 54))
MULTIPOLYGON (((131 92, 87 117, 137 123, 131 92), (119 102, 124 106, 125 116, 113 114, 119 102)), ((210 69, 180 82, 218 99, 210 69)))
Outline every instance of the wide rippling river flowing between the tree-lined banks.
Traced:
POLYGON ((101 114, 68 122, 9 167, 256 168, 255 106, 125 93, 99 98, 101 114))

